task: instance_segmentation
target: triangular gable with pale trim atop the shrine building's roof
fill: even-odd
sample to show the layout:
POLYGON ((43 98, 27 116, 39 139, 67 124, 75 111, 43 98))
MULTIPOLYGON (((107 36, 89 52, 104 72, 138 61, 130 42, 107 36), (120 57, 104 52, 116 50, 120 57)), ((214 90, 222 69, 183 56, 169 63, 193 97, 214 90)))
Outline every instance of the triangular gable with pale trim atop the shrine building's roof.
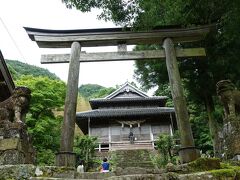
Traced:
POLYGON ((122 87, 117 89, 116 91, 112 92, 108 96, 105 97, 105 99, 114 99, 114 98, 147 98, 148 95, 133 85, 131 85, 129 82, 126 82, 122 87))

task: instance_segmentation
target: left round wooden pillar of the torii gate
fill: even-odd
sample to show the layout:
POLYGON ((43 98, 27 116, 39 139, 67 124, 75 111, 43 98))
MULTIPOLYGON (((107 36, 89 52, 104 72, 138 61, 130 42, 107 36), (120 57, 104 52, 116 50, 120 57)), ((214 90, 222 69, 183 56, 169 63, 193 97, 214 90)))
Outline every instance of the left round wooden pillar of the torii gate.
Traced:
POLYGON ((57 166, 75 167, 76 163, 76 157, 73 153, 73 141, 78 96, 80 51, 80 44, 78 42, 73 42, 71 46, 67 92, 64 107, 64 122, 61 130, 60 151, 56 155, 57 166))

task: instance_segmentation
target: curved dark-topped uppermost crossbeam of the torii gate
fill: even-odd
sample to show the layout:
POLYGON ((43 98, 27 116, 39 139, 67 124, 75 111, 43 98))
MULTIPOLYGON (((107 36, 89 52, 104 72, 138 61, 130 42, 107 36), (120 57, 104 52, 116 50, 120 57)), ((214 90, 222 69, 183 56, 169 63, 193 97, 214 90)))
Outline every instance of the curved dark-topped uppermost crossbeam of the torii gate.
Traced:
POLYGON ((131 31, 130 28, 49 30, 24 27, 31 40, 40 48, 70 48, 77 41, 82 47, 114 46, 118 44, 155 44, 170 37, 174 42, 203 39, 214 25, 192 28, 161 28, 152 31, 131 31))

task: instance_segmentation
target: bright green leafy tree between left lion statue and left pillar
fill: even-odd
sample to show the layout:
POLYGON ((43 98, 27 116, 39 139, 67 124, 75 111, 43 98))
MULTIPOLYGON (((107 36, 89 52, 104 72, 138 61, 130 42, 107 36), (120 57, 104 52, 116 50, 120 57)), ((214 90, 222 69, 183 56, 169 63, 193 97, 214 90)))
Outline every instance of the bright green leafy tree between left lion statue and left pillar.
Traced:
POLYGON ((26 124, 37 150, 37 163, 53 165, 54 153, 59 149, 62 122, 61 117, 54 116, 53 110, 63 106, 66 85, 59 80, 33 76, 21 76, 16 84, 32 91, 26 124))

